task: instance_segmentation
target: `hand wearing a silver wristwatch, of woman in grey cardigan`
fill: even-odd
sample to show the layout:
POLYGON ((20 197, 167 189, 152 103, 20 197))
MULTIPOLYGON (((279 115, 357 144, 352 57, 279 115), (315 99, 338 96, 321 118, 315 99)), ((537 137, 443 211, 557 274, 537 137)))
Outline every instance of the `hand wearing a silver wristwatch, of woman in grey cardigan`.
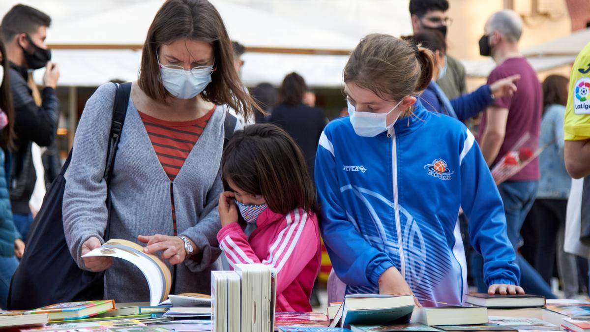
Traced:
MULTIPOLYGON (((162 234, 144 236, 139 235, 137 239, 140 242, 147 243, 148 245, 143 248, 145 253, 162 252, 162 258, 168 259, 168 262, 172 265, 180 264, 185 261, 187 257, 186 250, 184 249, 184 241, 178 236, 168 236, 162 234)), ((193 248, 192 255, 201 252, 201 248, 198 248, 192 240, 191 245, 193 248)))

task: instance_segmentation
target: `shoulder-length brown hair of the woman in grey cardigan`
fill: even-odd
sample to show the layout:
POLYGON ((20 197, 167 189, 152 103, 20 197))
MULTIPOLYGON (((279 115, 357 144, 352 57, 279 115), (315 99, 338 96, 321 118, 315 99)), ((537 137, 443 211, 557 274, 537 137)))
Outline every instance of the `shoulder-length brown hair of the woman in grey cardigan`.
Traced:
MULTIPOLYGON (((215 54, 212 82, 203 97, 217 105, 226 104, 248 119, 254 102, 245 92, 234 69, 234 48, 219 12, 207 0, 167 0, 156 13, 143 45, 139 86, 153 100, 167 103, 172 95, 162 85, 156 53, 161 45, 179 39, 210 43, 215 54)), ((258 109, 258 106, 254 106, 258 109)))

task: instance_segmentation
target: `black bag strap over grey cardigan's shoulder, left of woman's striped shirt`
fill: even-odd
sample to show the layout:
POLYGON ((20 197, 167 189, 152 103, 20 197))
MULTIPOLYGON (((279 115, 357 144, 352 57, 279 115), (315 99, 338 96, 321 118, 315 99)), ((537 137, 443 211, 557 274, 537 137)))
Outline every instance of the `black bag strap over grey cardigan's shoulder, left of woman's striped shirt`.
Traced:
POLYGON ((107 185, 113 172, 114 158, 117 155, 117 147, 121 139, 121 131, 125 123, 127 106, 131 95, 131 82, 117 84, 117 92, 114 96, 113 119, 109 136, 109 149, 107 150, 107 161, 104 167, 104 180, 107 185))

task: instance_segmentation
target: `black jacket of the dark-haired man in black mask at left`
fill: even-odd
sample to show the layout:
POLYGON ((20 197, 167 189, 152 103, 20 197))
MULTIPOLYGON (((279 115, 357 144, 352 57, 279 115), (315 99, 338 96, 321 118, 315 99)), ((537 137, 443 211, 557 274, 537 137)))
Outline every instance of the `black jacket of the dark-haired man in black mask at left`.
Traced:
POLYGON ((59 100, 55 90, 45 87, 41 92, 41 107, 35 104, 32 90, 27 84, 25 67, 11 63, 10 82, 14 99, 14 131, 17 135, 13 151, 10 200, 13 213, 31 213, 29 200, 35 188, 37 175, 33 165, 31 143, 47 147, 55 141, 59 118, 59 100))

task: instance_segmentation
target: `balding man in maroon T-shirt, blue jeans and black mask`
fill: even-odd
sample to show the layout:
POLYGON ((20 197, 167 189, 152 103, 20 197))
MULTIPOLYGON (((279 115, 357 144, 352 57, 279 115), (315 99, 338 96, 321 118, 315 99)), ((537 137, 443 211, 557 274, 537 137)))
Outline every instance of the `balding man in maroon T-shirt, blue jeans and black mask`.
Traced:
MULTIPOLYGON (((491 56, 497 64, 488 77, 488 84, 520 75, 515 82, 517 90, 514 95, 494 100, 481 119, 479 143, 490 168, 512 150, 525 133, 532 138, 528 148, 534 151, 539 144, 543 89, 535 70, 520 54, 522 26, 522 19, 516 12, 509 9, 496 12, 487 20, 479 41, 480 54, 491 56)), ((504 201, 508 238, 515 251, 522 245, 520 228, 535 200, 539 177, 539 161, 535 159, 498 187, 504 201)), ((518 253, 516 261, 521 272, 520 285, 528 294, 554 297, 549 285, 518 253)), ((482 266, 474 265, 474 268, 481 269, 482 266)), ((483 285, 478 288, 487 289, 483 285)))

